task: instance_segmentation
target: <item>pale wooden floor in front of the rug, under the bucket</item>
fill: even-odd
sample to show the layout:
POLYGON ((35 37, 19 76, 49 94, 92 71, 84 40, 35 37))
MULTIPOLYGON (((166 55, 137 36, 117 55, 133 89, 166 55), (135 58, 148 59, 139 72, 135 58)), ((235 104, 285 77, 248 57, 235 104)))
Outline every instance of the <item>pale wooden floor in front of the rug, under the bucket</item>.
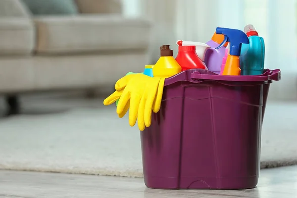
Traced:
POLYGON ((0 170, 0 198, 297 198, 297 166, 264 169, 249 190, 155 190, 143 179, 0 170))

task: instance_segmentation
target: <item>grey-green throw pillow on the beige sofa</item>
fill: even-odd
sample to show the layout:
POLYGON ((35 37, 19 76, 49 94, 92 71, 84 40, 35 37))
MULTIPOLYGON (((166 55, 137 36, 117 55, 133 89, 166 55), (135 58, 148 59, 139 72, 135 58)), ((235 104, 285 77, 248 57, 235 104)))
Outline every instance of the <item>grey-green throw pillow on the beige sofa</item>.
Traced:
POLYGON ((73 0, 23 0, 33 15, 78 14, 73 0))

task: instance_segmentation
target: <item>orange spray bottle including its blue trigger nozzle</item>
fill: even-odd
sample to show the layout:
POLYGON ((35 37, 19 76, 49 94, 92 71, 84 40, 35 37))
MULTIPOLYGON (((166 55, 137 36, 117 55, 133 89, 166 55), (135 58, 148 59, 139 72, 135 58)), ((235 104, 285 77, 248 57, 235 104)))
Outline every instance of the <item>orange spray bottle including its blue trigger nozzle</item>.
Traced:
POLYGON ((249 44, 249 39, 247 35, 241 30, 221 27, 217 27, 216 33, 225 36, 224 41, 217 48, 221 48, 227 41, 230 42, 230 51, 227 56, 223 75, 240 75, 241 69, 239 63, 239 56, 241 52, 242 43, 249 44))

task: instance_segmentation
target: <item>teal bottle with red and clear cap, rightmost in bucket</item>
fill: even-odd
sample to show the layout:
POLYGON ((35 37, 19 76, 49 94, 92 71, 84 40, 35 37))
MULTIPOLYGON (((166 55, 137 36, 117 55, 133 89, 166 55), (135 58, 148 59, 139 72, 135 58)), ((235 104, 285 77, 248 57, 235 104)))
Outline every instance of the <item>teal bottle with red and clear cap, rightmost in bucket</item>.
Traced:
POLYGON ((249 44, 242 45, 240 56, 241 75, 261 75, 264 72, 265 43, 264 39, 258 35, 253 25, 244 28, 249 44), (247 51, 243 53, 243 51, 247 51))

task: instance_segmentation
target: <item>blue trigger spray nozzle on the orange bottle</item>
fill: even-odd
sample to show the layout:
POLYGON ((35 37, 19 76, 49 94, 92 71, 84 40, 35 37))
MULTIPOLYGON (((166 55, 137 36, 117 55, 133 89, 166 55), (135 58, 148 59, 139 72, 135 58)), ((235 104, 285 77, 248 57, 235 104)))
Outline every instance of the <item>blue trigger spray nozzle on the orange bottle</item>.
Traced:
POLYGON ((217 27, 216 33, 225 36, 223 42, 217 48, 221 48, 226 42, 229 42, 230 55, 240 56, 241 45, 243 43, 249 44, 247 35, 241 30, 217 27))

